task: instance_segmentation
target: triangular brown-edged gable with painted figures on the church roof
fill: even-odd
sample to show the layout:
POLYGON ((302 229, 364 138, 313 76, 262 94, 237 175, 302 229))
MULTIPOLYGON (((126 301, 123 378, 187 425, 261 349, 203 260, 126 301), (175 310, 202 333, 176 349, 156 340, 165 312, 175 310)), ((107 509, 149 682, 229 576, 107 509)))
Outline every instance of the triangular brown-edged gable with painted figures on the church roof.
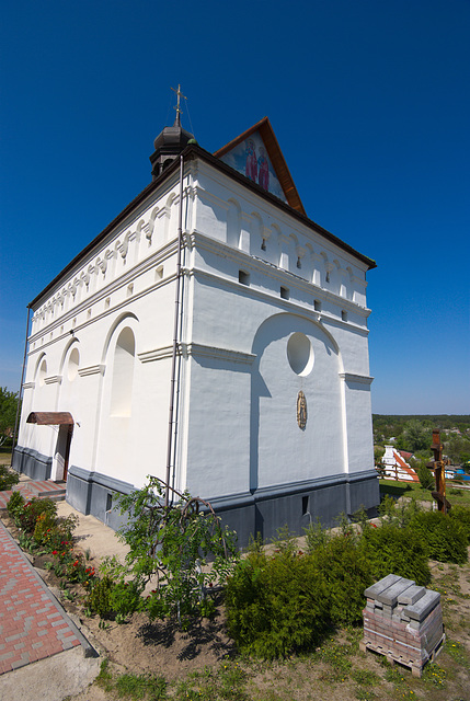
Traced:
POLYGON ((297 211, 306 214, 267 117, 214 156, 297 211))

